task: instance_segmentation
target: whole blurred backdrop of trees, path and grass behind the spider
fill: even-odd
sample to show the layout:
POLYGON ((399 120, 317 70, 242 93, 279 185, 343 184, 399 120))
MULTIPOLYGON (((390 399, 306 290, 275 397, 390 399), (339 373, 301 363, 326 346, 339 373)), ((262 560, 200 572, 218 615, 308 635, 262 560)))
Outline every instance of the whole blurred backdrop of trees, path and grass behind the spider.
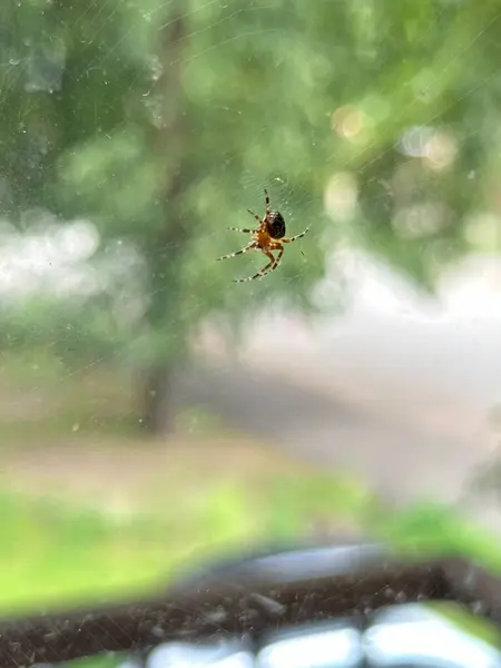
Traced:
POLYGON ((281 540, 501 563, 500 63, 500 0, 2 2, 2 612, 281 540), (237 284, 265 187, 311 229, 237 284))

